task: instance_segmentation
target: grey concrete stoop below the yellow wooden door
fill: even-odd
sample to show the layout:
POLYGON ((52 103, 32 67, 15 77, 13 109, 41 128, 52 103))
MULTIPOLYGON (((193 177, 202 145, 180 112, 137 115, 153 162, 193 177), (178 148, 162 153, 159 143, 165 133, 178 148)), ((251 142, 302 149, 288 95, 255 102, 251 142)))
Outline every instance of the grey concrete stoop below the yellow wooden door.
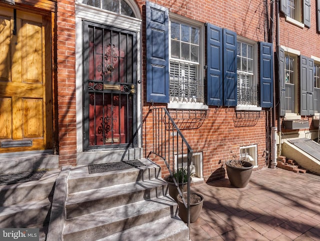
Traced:
POLYGON ((0 227, 39 228, 39 240, 45 240, 59 171, 47 171, 37 181, 0 186, 0 227))

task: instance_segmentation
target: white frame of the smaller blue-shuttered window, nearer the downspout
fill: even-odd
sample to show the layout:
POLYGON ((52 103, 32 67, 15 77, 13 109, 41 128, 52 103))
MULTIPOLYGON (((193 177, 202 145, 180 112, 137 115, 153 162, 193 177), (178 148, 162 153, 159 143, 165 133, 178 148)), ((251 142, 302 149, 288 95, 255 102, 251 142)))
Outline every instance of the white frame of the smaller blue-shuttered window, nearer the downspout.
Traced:
MULTIPOLYGON (((253 47, 253 61, 252 61, 252 73, 247 73, 247 72, 242 72, 237 70, 237 89, 240 86, 239 83, 239 78, 238 78, 238 74, 240 73, 245 73, 245 74, 250 74, 253 76, 252 81, 254 81, 254 83, 256 84, 256 91, 257 91, 257 100, 256 100, 256 105, 252 105, 252 104, 242 104, 240 103, 239 99, 237 99, 237 107, 236 110, 260 110, 260 107, 258 107, 259 105, 259 92, 258 92, 258 87, 259 87, 259 81, 258 81, 258 74, 257 74, 257 69, 258 69, 258 44, 256 41, 241 37, 241 36, 237 36, 237 42, 241 42, 241 43, 245 43, 248 45, 251 45, 253 47), (242 108, 241 108, 242 107, 242 108)), ((238 89, 238 93, 239 93, 239 89, 238 89)), ((239 96, 238 96, 239 98, 239 96)))

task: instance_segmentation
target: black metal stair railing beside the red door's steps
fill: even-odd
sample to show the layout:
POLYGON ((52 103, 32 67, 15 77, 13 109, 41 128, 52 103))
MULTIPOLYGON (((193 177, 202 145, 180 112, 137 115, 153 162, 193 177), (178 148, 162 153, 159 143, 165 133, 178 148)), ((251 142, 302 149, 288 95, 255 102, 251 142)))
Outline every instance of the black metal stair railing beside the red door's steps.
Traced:
POLYGON ((152 127, 146 130, 147 138, 145 145, 146 150, 149 151, 147 157, 150 158, 150 155, 154 154, 162 159, 171 177, 173 177, 173 173, 180 168, 186 168, 187 170, 187 200, 183 197, 183 191, 181 192, 183 185, 185 185, 183 181, 178 178, 172 178, 172 180, 187 209, 187 226, 189 227, 191 180, 189 177, 193 150, 165 108, 151 108, 145 119, 152 123, 152 127), (149 118, 151 118, 151 120, 149 120, 149 118), (150 133, 152 133, 152 135, 150 135, 150 133), (152 140, 150 140, 151 138, 152 140), (180 163, 178 159, 181 159, 180 163), (186 161, 186 163, 184 163, 184 161, 186 161), (179 189, 179 183, 182 183, 181 190, 179 189))

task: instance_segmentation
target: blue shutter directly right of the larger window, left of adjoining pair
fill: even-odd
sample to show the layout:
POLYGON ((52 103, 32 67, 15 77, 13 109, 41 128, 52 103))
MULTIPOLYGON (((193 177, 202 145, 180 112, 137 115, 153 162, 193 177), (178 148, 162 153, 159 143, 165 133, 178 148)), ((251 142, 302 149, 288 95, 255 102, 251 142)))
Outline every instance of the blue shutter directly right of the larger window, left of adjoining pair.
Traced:
POLYGON ((207 105, 222 106, 222 28, 206 24, 207 105))

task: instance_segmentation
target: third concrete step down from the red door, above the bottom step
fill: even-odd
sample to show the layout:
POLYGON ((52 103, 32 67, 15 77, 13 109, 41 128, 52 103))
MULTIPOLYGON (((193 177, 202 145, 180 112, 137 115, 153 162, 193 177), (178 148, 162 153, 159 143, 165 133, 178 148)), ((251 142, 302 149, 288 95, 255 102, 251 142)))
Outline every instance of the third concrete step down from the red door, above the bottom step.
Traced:
POLYGON ((174 217, 177 204, 162 196, 82 215, 65 222, 63 240, 98 240, 164 217, 174 217))

